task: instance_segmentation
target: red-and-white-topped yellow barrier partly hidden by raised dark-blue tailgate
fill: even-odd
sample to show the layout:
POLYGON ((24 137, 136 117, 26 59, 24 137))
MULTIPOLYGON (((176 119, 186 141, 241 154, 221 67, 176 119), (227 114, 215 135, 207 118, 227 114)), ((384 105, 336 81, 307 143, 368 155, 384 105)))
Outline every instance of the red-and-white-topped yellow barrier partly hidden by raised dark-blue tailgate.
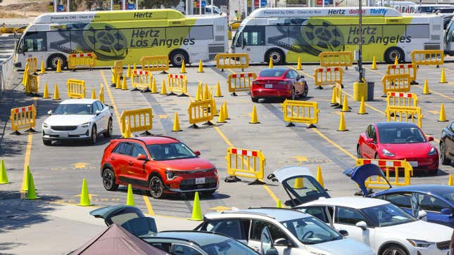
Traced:
MULTIPOLYGON (((410 162, 405 160, 388 160, 388 159, 356 159, 356 166, 361 166, 363 164, 375 164, 382 168, 384 171, 386 180, 393 186, 405 186, 410 185, 410 177, 413 176, 413 168, 410 165, 410 162), (390 169, 394 171, 394 181, 390 178, 390 169), (398 171, 396 171, 398 170, 398 171), (399 176, 399 171, 403 170, 403 180, 399 176)), ((376 189, 389 189, 388 183, 382 178, 377 176, 375 181, 372 181, 372 177, 369 180, 365 181, 367 188, 376 188, 376 189)))

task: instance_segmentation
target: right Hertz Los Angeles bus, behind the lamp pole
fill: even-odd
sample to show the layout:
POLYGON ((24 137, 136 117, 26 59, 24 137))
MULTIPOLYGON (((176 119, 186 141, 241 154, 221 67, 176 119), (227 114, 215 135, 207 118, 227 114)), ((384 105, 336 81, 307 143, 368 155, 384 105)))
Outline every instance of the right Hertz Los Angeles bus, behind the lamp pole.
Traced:
MULTIPOLYGON (((358 8, 260 8, 241 25, 233 53, 249 53, 250 62, 318 62, 323 51, 358 50, 358 8)), ((362 59, 411 61, 413 50, 443 49, 439 15, 398 13, 393 8, 362 9, 362 59)))

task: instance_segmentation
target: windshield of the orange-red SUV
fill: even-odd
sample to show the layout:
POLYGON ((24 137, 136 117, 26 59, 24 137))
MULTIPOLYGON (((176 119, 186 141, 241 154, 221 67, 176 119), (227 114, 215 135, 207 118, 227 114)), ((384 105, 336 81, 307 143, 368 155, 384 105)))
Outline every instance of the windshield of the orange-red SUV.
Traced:
POLYGON ((189 159, 196 157, 184 143, 161 143, 146 145, 154 160, 189 159))

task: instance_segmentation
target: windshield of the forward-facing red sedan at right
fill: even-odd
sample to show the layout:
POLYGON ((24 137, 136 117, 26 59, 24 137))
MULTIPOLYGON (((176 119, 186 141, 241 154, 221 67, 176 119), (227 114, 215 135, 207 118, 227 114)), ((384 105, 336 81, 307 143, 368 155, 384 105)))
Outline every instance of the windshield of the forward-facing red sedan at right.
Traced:
POLYGON ((380 143, 425 143, 426 138, 417 127, 382 127, 379 129, 380 143))

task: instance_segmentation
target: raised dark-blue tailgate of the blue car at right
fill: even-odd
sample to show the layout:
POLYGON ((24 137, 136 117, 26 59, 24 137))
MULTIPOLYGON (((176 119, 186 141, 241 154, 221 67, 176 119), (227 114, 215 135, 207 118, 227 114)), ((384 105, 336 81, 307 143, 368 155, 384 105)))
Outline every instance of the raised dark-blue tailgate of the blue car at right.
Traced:
MULTIPOLYGON (((365 197, 369 195, 365 185, 365 181, 367 180, 367 178, 369 178, 370 176, 380 176, 386 180, 386 177, 384 176, 382 169, 380 169, 379 166, 377 166, 376 164, 363 164, 361 166, 356 166, 353 167, 352 169, 347 169, 346 171, 343 171, 343 174, 349 176, 353 181, 355 181, 355 183, 358 183, 362 191, 362 194, 365 197)), ((389 184, 389 188, 392 188, 391 184, 389 184)))

